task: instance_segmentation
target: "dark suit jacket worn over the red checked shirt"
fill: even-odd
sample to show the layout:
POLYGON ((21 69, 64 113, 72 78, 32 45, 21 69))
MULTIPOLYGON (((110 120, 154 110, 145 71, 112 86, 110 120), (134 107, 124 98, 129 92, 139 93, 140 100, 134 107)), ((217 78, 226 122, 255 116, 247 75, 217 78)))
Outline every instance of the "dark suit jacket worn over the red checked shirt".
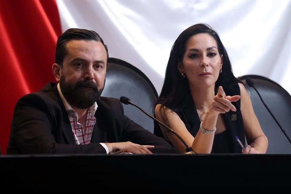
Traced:
POLYGON ((106 153, 99 142, 154 145, 153 153, 176 153, 164 139, 153 135, 124 115, 118 99, 100 97, 91 142, 76 145, 67 111, 55 83, 17 102, 7 154, 106 153))

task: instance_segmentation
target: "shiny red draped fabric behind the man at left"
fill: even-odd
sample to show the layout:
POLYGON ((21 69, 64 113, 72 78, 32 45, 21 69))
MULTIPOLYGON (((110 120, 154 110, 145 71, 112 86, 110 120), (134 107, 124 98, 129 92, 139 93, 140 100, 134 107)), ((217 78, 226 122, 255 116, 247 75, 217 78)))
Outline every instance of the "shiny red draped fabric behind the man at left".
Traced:
POLYGON ((0 1, 0 32, 0 145, 6 154, 17 100, 55 81, 52 64, 62 33, 56 1, 0 1))

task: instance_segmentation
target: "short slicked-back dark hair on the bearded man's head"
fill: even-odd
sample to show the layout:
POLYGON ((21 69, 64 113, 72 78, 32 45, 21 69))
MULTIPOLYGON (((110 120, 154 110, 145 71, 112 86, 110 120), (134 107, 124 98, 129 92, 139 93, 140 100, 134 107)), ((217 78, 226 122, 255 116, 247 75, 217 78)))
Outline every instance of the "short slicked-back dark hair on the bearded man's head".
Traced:
POLYGON ((97 42, 101 42, 105 47, 107 52, 107 62, 108 62, 108 49, 104 44, 102 38, 93 30, 79 29, 79 28, 70 28, 66 30, 57 41, 57 46, 55 49, 55 63, 59 64, 61 67, 63 66, 64 58, 67 55, 67 47, 66 44, 70 40, 95 40, 97 42))

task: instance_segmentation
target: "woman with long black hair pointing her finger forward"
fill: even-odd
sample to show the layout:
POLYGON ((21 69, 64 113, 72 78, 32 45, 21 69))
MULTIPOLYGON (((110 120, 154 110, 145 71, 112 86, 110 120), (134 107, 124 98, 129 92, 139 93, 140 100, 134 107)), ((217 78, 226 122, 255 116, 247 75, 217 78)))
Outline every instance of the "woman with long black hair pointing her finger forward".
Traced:
MULTIPOLYGON (((196 153, 266 153, 268 140, 244 85, 232 73, 217 32, 196 24, 175 41, 155 116, 196 153), (245 145, 242 149, 236 136, 245 145)), ((184 144, 162 125, 154 133, 180 152, 184 144)))

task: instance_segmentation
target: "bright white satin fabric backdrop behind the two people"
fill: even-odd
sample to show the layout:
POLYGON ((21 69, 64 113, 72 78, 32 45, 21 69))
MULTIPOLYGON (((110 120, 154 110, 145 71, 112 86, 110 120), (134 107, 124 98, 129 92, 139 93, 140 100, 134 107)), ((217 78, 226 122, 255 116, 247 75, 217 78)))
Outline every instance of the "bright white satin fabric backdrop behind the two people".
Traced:
POLYGON ((57 0, 62 31, 95 30, 158 94, 172 45, 196 23, 220 35, 236 77, 263 75, 291 94, 291 0, 57 0))

